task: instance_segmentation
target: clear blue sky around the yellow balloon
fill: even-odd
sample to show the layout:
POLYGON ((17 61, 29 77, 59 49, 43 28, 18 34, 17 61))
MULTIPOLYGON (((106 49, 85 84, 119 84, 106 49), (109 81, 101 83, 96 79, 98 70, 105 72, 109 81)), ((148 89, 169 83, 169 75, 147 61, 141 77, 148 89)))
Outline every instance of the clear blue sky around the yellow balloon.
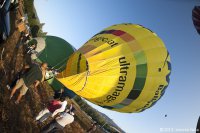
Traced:
POLYGON ((171 55, 172 74, 165 95, 155 106, 142 113, 123 114, 93 105, 127 133, 160 133, 160 128, 181 132, 175 130, 196 127, 200 115, 200 36, 191 19, 194 5, 200 1, 35 0, 40 21, 45 23, 43 30, 76 48, 102 29, 125 22, 148 27, 162 38, 171 55))

